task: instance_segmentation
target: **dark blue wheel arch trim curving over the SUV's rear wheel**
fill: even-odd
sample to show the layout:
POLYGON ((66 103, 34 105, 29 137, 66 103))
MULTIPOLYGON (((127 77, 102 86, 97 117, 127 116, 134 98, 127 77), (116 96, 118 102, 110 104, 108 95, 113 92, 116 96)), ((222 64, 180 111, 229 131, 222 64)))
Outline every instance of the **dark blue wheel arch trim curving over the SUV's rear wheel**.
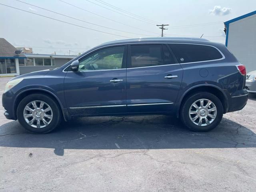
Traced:
POLYGON ((196 86, 193 86, 190 89, 186 90, 186 92, 184 92, 184 94, 180 98, 180 101, 179 101, 180 107, 182 106, 182 104, 184 103, 186 98, 188 98, 190 95, 192 95, 196 92, 202 92, 202 91, 210 92, 210 93, 214 94, 215 96, 217 96, 220 99, 220 102, 222 103, 224 114, 226 112, 228 112, 228 97, 221 88, 219 88, 218 86, 215 86, 215 85, 205 85, 205 84, 196 85, 196 86))

